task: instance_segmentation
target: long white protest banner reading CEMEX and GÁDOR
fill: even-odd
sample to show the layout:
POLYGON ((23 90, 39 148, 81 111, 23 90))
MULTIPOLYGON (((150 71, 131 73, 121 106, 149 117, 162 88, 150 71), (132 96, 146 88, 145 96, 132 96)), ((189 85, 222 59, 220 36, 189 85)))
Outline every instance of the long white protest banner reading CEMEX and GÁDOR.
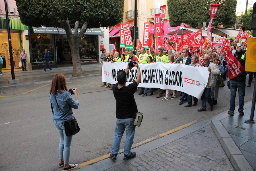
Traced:
MULTIPOLYGON (((192 67, 183 64, 164 64, 160 62, 139 64, 141 82, 138 87, 172 89, 201 99, 208 82, 209 72, 206 67, 192 67)), ((116 74, 125 70, 127 62, 103 62, 102 82, 116 84, 116 74)), ((137 68, 127 74, 126 85, 136 80, 137 68)))

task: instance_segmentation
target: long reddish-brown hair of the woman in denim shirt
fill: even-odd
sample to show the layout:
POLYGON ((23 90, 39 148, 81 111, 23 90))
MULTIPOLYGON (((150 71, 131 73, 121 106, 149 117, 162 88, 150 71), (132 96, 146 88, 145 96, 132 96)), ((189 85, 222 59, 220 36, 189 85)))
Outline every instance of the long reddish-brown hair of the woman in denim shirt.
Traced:
POLYGON ((49 92, 55 94, 57 90, 59 93, 62 93, 62 90, 68 91, 66 85, 66 77, 63 74, 55 74, 55 76, 53 76, 51 89, 49 92))

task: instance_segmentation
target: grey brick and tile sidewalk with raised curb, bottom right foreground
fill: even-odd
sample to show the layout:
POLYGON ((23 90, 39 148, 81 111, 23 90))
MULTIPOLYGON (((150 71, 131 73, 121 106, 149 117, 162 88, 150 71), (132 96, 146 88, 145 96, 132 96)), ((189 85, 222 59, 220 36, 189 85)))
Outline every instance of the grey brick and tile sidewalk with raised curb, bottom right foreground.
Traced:
POLYGON ((234 116, 225 111, 133 148, 131 151, 137 153, 133 159, 123 160, 120 153, 117 160, 106 158, 86 167, 85 163, 80 164, 82 168, 78 170, 256 171, 256 124, 247 122, 251 102, 245 103, 244 108, 242 117, 236 107, 234 116))

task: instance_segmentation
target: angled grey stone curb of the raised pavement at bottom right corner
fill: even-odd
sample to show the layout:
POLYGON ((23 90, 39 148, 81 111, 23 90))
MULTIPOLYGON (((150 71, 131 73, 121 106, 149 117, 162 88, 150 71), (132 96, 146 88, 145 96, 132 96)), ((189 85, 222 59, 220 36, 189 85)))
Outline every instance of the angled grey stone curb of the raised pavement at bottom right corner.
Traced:
POLYGON ((218 138, 222 148, 224 149, 230 163, 236 171, 253 171, 253 168, 243 156, 243 153, 240 151, 234 140, 230 137, 226 128, 222 125, 220 120, 229 117, 226 111, 224 114, 219 117, 211 119, 211 127, 216 137, 218 138))

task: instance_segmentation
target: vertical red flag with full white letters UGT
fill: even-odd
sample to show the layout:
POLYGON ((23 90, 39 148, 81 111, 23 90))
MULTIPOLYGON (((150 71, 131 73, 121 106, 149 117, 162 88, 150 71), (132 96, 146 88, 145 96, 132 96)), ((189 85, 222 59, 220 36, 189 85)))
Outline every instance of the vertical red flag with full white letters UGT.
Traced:
POLYGON ((155 48, 156 54, 157 49, 162 47, 162 32, 161 32, 161 14, 155 14, 154 23, 155 23, 155 48))

